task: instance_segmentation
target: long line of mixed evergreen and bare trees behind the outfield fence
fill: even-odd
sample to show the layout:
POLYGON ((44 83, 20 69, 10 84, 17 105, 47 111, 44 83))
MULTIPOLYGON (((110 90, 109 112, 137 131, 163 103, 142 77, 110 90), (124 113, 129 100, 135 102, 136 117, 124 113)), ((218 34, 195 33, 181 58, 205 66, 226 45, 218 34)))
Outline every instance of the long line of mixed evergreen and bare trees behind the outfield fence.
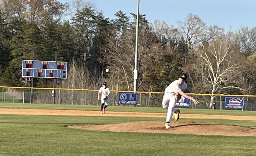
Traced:
MULTIPOLYGON (((1 0, 0 6, 1 86, 31 86, 21 77, 22 60, 54 61, 57 52, 58 61, 69 63, 57 87, 98 89, 106 81, 111 90, 133 90, 136 14, 119 10, 109 19, 82 0, 72 6, 1 0)), ((186 92, 256 94, 256 27, 224 30, 192 13, 177 24, 150 23, 140 14, 138 91, 164 92, 186 72, 186 92)), ((35 78, 34 86, 53 87, 53 80, 35 78)))

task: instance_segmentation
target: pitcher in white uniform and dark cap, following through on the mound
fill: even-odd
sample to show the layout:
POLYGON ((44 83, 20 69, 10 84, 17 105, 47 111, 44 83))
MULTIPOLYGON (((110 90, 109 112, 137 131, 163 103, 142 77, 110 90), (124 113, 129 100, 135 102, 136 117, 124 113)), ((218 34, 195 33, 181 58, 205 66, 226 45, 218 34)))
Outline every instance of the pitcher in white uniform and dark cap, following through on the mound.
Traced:
POLYGON ((180 110, 174 108, 178 93, 187 99, 191 99, 195 105, 199 103, 194 98, 190 97, 189 95, 183 92, 187 88, 187 84, 185 83, 185 80, 187 80, 187 74, 183 73, 179 76, 178 80, 173 81, 165 89, 162 105, 163 105, 163 108, 168 109, 167 115, 166 115, 166 123, 165 123, 166 129, 171 128, 170 120, 172 119, 173 113, 175 116, 175 120, 176 121, 179 120, 180 110))

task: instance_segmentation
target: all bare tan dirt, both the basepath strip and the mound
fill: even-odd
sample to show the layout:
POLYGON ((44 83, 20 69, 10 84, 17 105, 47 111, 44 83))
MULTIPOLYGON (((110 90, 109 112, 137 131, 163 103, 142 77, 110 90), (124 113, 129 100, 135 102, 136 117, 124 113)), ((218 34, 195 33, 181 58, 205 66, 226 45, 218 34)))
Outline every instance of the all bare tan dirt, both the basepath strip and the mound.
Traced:
MULTIPOLYGON (((0 114, 17 115, 58 115, 58 116, 114 116, 114 117, 166 117, 165 113, 140 113, 140 112, 107 112, 79 110, 42 110, 42 109, 0 109, 0 114)), ((230 120, 256 120, 255 116, 224 116, 224 115, 199 115, 181 114, 181 118, 211 118, 230 120)), ((150 133, 176 133, 200 135, 227 135, 227 136, 256 136, 256 129, 237 125, 208 124, 187 122, 171 122, 171 129, 165 129, 163 122, 140 121, 105 125, 70 125, 70 128, 89 130, 115 131, 115 132, 150 132, 150 133)))

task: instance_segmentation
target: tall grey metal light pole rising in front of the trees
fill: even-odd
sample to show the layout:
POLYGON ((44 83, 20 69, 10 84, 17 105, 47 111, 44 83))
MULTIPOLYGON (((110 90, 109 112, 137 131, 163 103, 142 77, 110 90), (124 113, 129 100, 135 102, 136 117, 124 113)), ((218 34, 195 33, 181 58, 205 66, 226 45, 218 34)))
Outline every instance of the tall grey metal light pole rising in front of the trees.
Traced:
POLYGON ((135 43, 135 65, 133 71, 133 79, 134 79, 134 88, 133 91, 137 92, 137 79, 138 79, 138 41, 139 41, 139 9, 140 8, 140 0, 138 0, 137 5, 137 24, 136 24, 136 43, 135 43))

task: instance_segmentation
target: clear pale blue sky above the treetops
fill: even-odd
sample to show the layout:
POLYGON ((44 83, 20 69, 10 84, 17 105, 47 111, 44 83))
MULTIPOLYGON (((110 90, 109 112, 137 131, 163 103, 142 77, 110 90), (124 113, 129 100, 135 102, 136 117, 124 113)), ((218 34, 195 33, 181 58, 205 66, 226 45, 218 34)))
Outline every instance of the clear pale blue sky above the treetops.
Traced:
MULTIPOLYGON (((72 2, 72 0, 59 0, 72 2)), ((137 0, 90 0, 98 11, 114 19, 114 14, 122 10, 130 16, 137 12, 137 0)), ((140 0, 140 13, 146 14, 149 22, 165 21, 177 26, 189 13, 197 14, 207 26, 218 25, 225 30, 232 26, 256 27, 256 0, 140 0)))

